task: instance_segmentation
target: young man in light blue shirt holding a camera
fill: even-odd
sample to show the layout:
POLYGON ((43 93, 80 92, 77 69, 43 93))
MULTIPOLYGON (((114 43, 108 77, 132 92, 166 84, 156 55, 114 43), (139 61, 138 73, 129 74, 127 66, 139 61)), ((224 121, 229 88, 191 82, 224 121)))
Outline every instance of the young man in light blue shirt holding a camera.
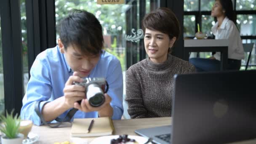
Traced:
POLYGON ((58 45, 40 53, 31 67, 21 119, 41 125, 42 118, 50 123, 56 117, 66 117, 72 108, 78 109, 73 118, 120 119, 123 115, 122 69, 120 61, 102 49, 103 43, 101 24, 92 13, 76 10, 67 16, 60 25, 58 45), (85 88, 73 84, 85 77, 104 77, 109 84, 101 106, 92 107, 86 99, 85 88), (41 101, 41 119, 35 112, 37 101, 41 101))

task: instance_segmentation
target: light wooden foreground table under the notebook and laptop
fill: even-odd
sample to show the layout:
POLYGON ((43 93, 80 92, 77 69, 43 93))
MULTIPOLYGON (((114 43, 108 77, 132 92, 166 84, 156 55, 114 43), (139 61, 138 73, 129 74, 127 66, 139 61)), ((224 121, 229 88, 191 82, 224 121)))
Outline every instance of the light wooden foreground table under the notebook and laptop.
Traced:
MULTIPOLYGON (((139 128, 151 128, 155 126, 170 125, 171 117, 113 120, 113 123, 115 126, 114 135, 137 135, 134 133, 134 131, 139 128)), ((49 128, 45 125, 34 125, 32 127, 32 132, 37 133, 40 136, 38 144, 53 144, 54 142, 70 141, 70 130, 70 123, 63 123, 60 128, 49 128)), ((82 139, 86 139, 89 144, 95 138, 82 139)), ((256 144, 256 139, 251 141, 235 142, 232 144, 256 144)))

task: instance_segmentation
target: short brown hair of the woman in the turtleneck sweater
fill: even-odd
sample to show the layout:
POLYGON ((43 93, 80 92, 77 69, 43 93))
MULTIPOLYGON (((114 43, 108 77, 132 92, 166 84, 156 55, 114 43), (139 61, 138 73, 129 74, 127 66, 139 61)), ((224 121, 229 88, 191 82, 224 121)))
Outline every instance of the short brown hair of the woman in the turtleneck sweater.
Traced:
POLYGON ((144 34, 147 28, 167 34, 170 39, 173 37, 178 39, 180 35, 179 21, 169 8, 157 8, 157 10, 146 14, 142 20, 141 27, 144 34))

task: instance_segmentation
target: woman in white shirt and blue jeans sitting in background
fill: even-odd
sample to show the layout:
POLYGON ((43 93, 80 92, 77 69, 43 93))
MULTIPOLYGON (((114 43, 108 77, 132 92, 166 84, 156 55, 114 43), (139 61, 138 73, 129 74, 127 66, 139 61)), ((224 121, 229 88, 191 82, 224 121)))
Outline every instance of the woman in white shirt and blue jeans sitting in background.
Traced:
MULTIPOLYGON (((211 28, 215 39, 228 39, 228 67, 229 70, 239 70, 241 59, 244 59, 243 43, 240 32, 235 25, 235 14, 232 0, 215 0, 211 16, 217 22, 211 28)), ((209 59, 191 58, 189 62, 195 65, 197 71, 220 70, 220 52, 216 52, 209 59)))

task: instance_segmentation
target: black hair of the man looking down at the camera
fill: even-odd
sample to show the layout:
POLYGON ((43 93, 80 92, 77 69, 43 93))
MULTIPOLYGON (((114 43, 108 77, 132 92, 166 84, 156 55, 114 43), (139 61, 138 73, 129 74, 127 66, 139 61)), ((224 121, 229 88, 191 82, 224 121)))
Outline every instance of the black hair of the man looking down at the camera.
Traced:
POLYGON ((98 55, 104 43, 99 20, 84 10, 72 10, 72 13, 61 21, 60 39, 65 50, 72 45, 85 55, 98 55))

